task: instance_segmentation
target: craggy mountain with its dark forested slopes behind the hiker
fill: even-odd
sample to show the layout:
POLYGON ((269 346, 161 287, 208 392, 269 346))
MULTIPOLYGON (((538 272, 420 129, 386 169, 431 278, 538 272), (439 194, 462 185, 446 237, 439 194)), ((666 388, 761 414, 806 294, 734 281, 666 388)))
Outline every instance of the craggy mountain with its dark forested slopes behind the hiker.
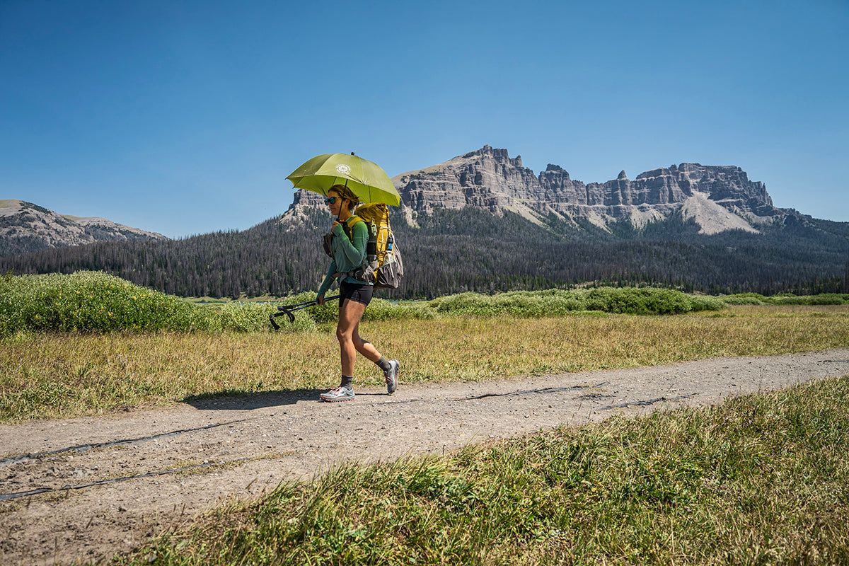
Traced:
MULTIPOLYGON (((534 174, 487 145, 392 182, 407 267, 396 297, 587 282, 847 292, 849 223, 774 206, 766 186, 734 165, 682 163, 584 183, 559 165, 534 174)), ((323 197, 299 190, 283 215, 245 231, 44 249, 0 258, 0 270, 94 269, 173 294, 283 295, 318 287, 330 221, 323 197)))

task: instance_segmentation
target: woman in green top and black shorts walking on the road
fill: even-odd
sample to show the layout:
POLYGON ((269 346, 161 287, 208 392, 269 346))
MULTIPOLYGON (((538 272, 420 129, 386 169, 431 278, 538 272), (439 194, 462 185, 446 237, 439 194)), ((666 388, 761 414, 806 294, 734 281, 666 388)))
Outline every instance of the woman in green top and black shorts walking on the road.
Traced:
POLYGON ((339 280, 339 322, 336 323, 336 339, 339 340, 342 362, 342 380, 336 389, 330 389, 319 397, 322 401, 351 401, 354 398, 353 375, 357 352, 365 356, 383 370, 386 391, 395 393, 398 385, 397 360, 387 360, 367 340, 360 337, 360 319, 366 306, 372 300, 374 283, 361 281, 353 277, 354 272, 363 264, 368 243, 368 227, 364 221, 354 215, 359 204, 357 195, 345 185, 334 185, 327 192, 324 202, 330 213, 336 217, 330 233, 330 253, 333 261, 318 288, 317 302, 324 304, 324 294, 330 289, 335 277, 339 280), (350 234, 350 236, 349 236, 350 234))

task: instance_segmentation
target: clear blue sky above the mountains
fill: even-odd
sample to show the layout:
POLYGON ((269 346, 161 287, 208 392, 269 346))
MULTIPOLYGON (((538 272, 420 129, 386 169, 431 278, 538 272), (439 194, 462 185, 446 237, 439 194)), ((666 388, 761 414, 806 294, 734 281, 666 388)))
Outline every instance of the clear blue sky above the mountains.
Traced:
POLYGON ((351 151, 573 179, 739 165, 849 221, 849 2, 0 0, 0 199, 178 238, 351 151))

